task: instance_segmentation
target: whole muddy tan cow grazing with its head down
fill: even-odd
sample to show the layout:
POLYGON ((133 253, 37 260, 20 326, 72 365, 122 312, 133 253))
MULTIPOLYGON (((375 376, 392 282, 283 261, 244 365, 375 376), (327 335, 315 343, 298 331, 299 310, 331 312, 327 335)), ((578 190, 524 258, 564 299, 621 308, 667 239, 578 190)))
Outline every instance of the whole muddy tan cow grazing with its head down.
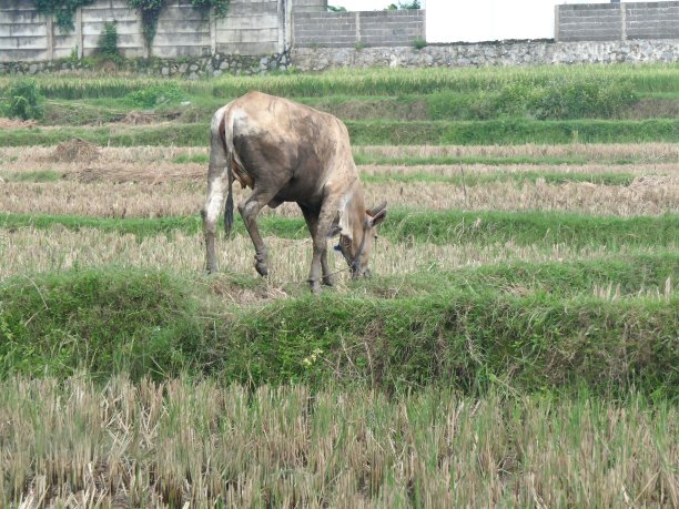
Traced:
POLYGON ((308 283, 314 293, 332 286, 327 238, 340 235, 353 277, 368 275, 375 226, 386 203, 367 210, 346 126, 335 116, 260 92, 250 92, 212 118, 207 198, 202 211, 207 272, 215 272, 214 235, 224 206, 226 236, 233 224, 233 181, 252 187, 239 204, 255 247, 255 268, 265 276, 266 246, 256 216, 264 205, 296 202, 313 238, 308 283))

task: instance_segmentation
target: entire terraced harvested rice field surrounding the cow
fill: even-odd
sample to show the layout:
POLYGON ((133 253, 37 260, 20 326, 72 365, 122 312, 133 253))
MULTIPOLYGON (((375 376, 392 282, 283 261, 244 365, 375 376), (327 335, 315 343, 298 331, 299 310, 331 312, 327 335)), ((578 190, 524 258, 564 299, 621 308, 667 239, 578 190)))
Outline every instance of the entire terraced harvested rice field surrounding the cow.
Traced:
POLYGON ((679 67, 33 84, 41 118, 0 106, 0 507, 679 507, 679 67), (205 274, 210 116, 250 89, 346 121, 371 278, 331 250, 312 296, 296 204, 267 277, 237 213, 205 274))

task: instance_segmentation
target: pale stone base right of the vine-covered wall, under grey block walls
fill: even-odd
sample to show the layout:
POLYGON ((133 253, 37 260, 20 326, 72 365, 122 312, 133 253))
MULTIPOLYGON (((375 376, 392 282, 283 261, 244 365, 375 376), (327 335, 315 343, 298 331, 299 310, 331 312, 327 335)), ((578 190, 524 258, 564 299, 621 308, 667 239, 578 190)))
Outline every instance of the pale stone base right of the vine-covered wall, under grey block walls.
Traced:
POLYGON ((679 62, 679 40, 609 42, 496 42, 414 48, 293 48, 301 71, 369 67, 546 65, 612 62, 679 62))

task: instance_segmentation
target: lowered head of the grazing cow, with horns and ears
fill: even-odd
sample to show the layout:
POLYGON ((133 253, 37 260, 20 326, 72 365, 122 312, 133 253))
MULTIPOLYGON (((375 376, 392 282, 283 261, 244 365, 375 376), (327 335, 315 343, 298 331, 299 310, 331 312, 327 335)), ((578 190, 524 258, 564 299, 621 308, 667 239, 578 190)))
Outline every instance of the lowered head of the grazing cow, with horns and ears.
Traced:
POLYGON ((351 218, 352 235, 342 233, 340 226, 331 230, 330 236, 340 235, 335 250, 342 253, 352 271, 352 277, 369 276, 367 267, 373 245, 375 244, 375 227, 386 218, 386 202, 363 213, 356 212, 351 218))

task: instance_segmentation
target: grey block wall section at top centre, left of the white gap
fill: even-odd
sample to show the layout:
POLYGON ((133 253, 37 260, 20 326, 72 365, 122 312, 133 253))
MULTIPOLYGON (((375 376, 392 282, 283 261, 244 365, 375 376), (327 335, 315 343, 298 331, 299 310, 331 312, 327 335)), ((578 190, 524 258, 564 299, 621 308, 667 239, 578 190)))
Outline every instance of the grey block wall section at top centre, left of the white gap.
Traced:
POLYGON ((293 45, 347 48, 413 45, 425 39, 425 11, 295 12, 293 45))

